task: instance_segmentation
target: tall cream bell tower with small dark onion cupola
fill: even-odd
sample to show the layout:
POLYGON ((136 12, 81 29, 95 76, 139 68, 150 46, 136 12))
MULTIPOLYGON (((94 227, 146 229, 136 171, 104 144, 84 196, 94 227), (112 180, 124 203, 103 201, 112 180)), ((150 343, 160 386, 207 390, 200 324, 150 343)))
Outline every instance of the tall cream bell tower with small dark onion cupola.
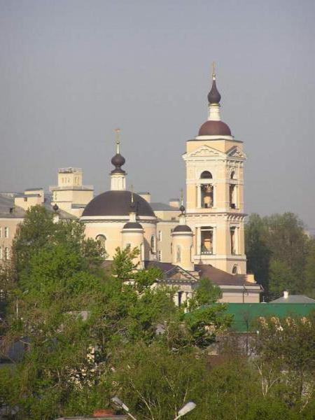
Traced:
POLYGON ((221 120, 216 73, 208 94, 208 120, 186 141, 186 221, 194 234, 195 264, 246 274, 243 142, 221 120))

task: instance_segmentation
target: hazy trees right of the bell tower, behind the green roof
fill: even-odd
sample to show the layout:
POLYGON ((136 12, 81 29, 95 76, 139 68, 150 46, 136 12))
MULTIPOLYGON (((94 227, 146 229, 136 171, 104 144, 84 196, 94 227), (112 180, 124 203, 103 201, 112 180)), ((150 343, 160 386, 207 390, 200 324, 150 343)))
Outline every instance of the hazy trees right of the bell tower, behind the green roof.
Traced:
POLYGON ((252 214, 245 227, 245 245, 248 271, 265 288, 267 299, 279 297, 286 289, 294 294, 312 293, 314 245, 295 214, 264 218, 252 214))

